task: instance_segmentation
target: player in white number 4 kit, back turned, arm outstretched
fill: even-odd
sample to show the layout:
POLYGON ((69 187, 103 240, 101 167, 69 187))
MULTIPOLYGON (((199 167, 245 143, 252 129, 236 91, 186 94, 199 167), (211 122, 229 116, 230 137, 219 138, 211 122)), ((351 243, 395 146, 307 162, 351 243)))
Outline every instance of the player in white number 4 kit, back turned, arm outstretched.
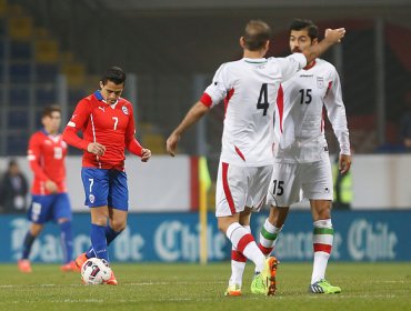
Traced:
MULTIPOLYGON (((210 108, 225 102, 222 151, 215 191, 215 215, 219 229, 232 243, 232 253, 255 264, 252 293, 275 293, 277 259, 258 248, 250 232, 251 211, 264 203, 272 174, 272 118, 281 82, 341 40, 344 29, 332 30, 325 39, 305 52, 288 58, 265 59, 271 31, 260 20, 245 26, 240 38, 243 58, 223 63, 201 99, 189 110, 167 140, 167 150, 176 154, 181 134, 210 108)), ((241 294, 241 282, 230 280, 228 295, 241 294)))

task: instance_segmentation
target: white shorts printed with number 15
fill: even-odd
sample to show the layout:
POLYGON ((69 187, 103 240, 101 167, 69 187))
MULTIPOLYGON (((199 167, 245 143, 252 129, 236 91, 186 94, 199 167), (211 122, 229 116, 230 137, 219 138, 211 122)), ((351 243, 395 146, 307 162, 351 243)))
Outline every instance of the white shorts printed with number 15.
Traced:
POLYGON ((311 163, 274 163, 267 203, 290 207, 303 198, 333 199, 331 163, 328 157, 311 163))

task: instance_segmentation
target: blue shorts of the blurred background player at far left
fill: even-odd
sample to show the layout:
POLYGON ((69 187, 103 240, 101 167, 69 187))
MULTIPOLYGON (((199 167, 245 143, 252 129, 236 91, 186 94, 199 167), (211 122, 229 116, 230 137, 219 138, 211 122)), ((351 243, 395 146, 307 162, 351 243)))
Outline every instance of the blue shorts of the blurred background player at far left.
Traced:
POLYGON ((36 223, 44 223, 49 220, 57 222, 61 218, 71 220, 69 195, 66 192, 49 195, 32 195, 28 218, 36 223))

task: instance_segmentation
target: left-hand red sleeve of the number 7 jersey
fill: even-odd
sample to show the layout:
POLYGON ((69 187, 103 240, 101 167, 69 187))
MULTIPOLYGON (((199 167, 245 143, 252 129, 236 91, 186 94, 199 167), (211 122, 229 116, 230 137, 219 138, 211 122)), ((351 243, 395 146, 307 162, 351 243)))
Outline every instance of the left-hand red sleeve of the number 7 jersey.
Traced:
POLYGON ((90 106, 86 99, 79 101, 73 114, 63 131, 63 140, 78 149, 87 150, 90 141, 81 139, 77 133, 86 129, 90 117, 90 106))

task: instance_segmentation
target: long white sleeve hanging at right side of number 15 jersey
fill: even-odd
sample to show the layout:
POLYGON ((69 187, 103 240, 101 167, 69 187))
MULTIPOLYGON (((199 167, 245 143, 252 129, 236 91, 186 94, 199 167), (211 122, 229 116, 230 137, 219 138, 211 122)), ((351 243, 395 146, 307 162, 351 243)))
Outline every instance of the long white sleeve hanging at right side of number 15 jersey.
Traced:
POLYGON ((347 126, 345 107, 342 101, 340 77, 337 70, 334 68, 332 69, 328 91, 324 97, 324 106, 327 108, 328 118, 340 144, 340 153, 351 154, 350 136, 347 126))

